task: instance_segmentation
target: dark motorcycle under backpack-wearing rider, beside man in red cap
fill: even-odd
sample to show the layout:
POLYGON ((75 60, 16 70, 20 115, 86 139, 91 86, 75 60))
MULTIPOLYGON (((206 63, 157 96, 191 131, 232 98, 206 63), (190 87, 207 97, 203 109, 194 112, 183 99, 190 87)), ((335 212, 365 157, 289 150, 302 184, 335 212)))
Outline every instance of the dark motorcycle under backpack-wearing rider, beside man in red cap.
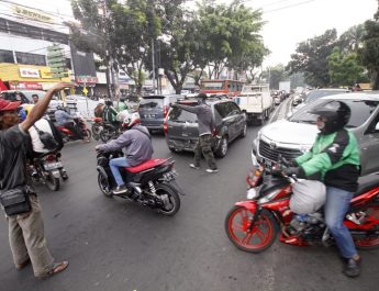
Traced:
POLYGON ((52 191, 58 191, 60 188, 60 178, 65 181, 68 176, 60 160, 60 153, 47 153, 33 159, 27 167, 27 174, 33 183, 46 184, 52 191))

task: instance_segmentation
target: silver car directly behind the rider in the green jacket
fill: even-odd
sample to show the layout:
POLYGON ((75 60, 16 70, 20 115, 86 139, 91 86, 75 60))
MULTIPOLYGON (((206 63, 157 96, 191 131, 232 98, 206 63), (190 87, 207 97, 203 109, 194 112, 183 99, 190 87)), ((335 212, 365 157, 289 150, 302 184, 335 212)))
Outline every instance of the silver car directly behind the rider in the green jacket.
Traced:
POLYGON ((379 171, 379 92, 357 92, 320 98, 308 103, 292 116, 264 126, 253 142, 253 165, 268 166, 281 155, 294 159, 311 148, 319 130, 316 116, 308 113, 314 107, 341 100, 352 109, 347 124, 357 137, 360 148, 361 175, 379 171))

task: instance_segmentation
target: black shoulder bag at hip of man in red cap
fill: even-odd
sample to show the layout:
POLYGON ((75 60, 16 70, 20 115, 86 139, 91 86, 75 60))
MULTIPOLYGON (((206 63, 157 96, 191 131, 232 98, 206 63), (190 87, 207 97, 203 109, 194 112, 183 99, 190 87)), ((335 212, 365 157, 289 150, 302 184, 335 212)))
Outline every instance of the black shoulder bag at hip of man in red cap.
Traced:
POLYGON ((1 191, 0 202, 8 216, 26 213, 32 209, 26 187, 1 191))

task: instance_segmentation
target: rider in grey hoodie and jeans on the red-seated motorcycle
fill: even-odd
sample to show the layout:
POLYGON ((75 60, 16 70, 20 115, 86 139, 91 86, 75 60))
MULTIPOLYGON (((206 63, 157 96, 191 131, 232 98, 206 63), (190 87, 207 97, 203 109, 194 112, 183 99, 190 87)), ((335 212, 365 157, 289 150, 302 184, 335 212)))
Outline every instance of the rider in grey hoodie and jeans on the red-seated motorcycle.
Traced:
POLYGON ((113 190, 113 194, 120 195, 129 192, 127 182, 123 181, 119 167, 137 166, 153 156, 152 138, 148 130, 141 124, 140 114, 129 113, 123 111, 123 127, 126 128, 116 139, 97 145, 96 150, 99 152, 114 152, 123 149, 125 156, 120 158, 112 158, 109 166, 118 187, 113 190))

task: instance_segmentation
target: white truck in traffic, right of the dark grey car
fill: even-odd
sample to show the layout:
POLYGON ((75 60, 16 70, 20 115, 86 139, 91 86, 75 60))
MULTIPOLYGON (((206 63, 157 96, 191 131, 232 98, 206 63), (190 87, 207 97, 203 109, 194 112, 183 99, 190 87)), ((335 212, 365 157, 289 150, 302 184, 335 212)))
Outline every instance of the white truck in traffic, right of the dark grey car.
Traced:
POLYGON ((246 115, 248 124, 263 124, 270 117, 275 108, 269 86, 267 83, 244 85, 239 96, 234 98, 246 115))

